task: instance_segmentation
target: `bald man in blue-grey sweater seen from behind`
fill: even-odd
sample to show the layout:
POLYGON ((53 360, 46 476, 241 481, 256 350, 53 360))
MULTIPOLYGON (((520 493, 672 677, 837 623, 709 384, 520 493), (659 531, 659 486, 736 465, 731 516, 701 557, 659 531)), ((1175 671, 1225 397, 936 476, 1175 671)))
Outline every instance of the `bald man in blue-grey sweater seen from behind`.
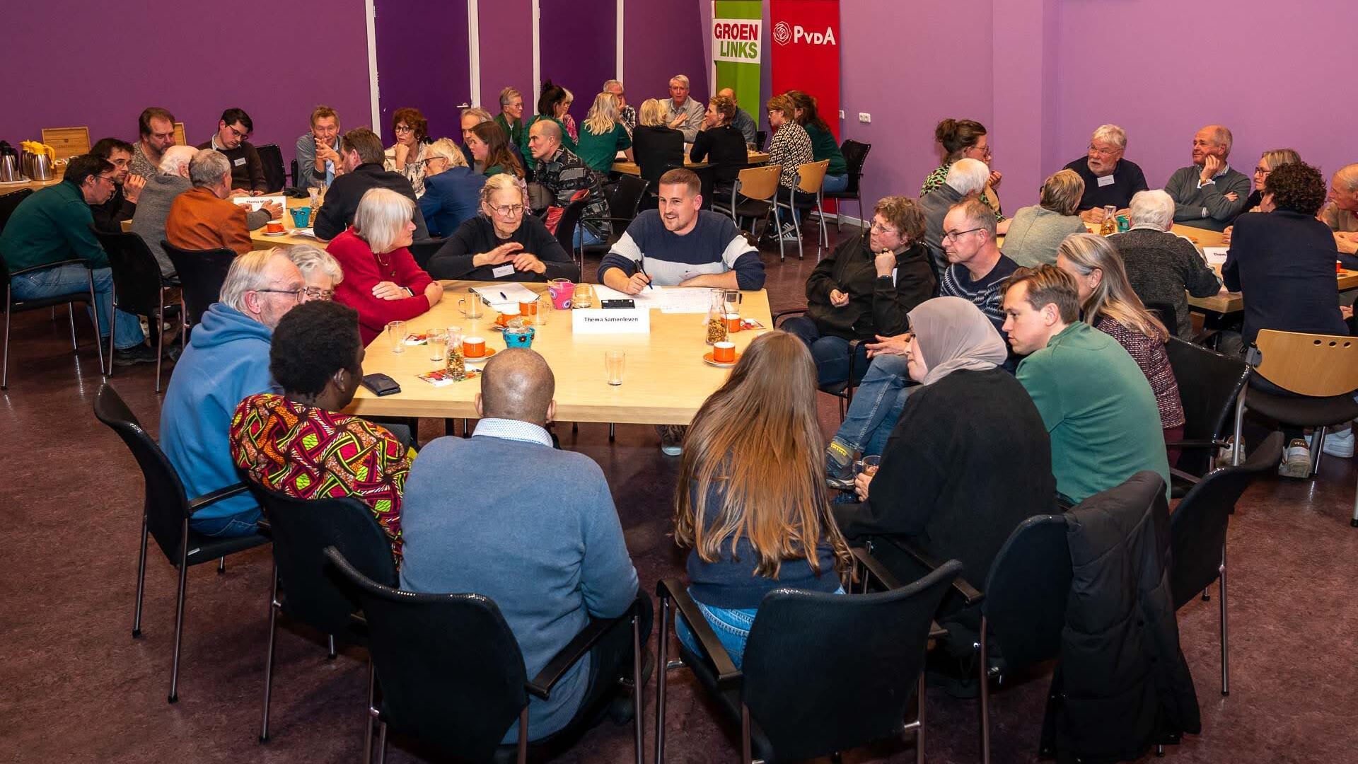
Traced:
MULTIPOLYGON (((591 620, 621 616, 633 604, 644 617, 642 644, 650 632, 650 601, 637 589, 603 470, 584 454, 553 449, 545 430, 554 393, 540 355, 496 353, 481 377, 475 434, 437 438, 420 451, 401 521, 402 587, 494 600, 530 677, 591 620)), ((551 699, 530 701, 528 740, 592 725, 630 673, 631 629, 615 627, 551 699)), ((516 722, 504 741, 517 735, 516 722)))

